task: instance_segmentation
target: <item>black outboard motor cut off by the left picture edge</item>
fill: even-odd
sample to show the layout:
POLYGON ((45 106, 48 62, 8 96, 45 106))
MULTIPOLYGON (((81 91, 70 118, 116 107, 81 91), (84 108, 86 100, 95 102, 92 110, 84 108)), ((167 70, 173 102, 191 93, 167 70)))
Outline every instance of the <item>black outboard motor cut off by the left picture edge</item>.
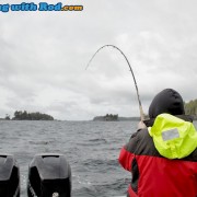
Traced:
POLYGON ((20 197, 20 170, 13 155, 0 154, 0 196, 20 197))

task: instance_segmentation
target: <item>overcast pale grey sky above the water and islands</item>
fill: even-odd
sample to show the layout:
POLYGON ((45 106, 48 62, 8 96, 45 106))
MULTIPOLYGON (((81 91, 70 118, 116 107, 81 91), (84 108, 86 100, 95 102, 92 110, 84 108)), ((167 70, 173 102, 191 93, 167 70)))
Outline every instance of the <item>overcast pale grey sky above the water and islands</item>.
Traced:
POLYGON ((134 80, 119 51, 104 48, 85 70, 106 44, 127 56, 146 113, 165 88, 186 102, 197 97, 197 1, 50 1, 57 2, 83 11, 0 12, 0 117, 16 109, 62 120, 138 116, 134 80))

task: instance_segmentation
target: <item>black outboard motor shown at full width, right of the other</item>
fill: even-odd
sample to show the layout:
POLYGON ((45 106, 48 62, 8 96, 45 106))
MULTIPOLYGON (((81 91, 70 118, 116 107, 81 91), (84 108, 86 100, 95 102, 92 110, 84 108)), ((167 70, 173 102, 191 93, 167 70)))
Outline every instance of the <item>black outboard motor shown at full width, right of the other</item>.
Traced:
POLYGON ((62 154, 37 154, 28 167, 28 197, 71 197, 71 169, 62 154))

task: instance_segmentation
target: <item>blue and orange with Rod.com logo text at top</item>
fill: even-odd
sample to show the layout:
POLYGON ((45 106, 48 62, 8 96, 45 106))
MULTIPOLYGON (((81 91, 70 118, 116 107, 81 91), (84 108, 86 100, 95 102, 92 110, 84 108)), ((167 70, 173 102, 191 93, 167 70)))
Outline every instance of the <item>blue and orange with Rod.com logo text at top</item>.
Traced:
POLYGON ((39 2, 38 4, 31 2, 22 2, 20 4, 0 4, 0 12, 9 11, 82 11, 83 5, 68 5, 61 2, 51 4, 48 2, 39 2))

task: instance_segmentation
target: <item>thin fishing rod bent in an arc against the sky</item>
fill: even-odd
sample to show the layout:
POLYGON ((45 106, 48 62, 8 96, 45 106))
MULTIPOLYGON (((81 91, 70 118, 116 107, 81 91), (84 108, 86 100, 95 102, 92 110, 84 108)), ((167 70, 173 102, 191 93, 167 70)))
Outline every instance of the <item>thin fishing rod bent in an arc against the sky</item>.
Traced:
POLYGON ((138 85, 137 85, 137 82, 136 82, 136 78, 135 78, 135 74, 134 74, 134 71, 132 71, 132 68, 126 57, 126 55, 118 48, 116 47, 115 45, 104 45, 102 46, 101 48, 99 48, 95 54, 92 56, 92 58, 90 59, 89 63, 86 65, 86 68, 85 70, 90 67, 90 63, 92 62, 92 60, 94 59, 94 57, 96 56, 96 54, 102 50, 103 48, 105 47, 113 47, 115 49, 117 49, 123 56, 124 58, 126 59, 128 66, 129 66, 129 69, 130 69, 130 72, 131 72, 131 76, 132 76, 132 79, 134 79, 134 83, 135 83, 135 86, 136 86, 136 93, 137 93, 137 99, 138 99, 138 104, 139 104, 139 111, 140 111, 140 118, 141 118, 141 121, 144 120, 144 114, 143 114, 143 109, 142 109, 142 105, 141 105, 141 100, 140 100, 140 95, 139 95, 139 90, 138 90, 138 85))

